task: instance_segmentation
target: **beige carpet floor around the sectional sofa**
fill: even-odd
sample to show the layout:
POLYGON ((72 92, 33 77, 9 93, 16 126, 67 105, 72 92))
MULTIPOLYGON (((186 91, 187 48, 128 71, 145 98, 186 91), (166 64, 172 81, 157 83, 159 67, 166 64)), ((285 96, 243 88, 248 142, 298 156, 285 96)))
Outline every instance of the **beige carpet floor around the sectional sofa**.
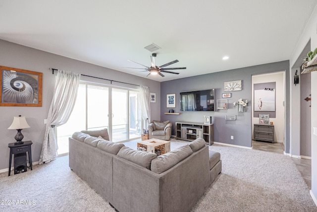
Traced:
MULTIPOLYGON (((186 143, 173 141, 171 149, 186 143)), ((210 148, 221 153, 222 173, 193 212, 317 212, 290 157, 221 145, 210 148)), ((68 156, 10 177, 2 173, 0 185, 0 211, 114 212, 69 169, 68 156)))

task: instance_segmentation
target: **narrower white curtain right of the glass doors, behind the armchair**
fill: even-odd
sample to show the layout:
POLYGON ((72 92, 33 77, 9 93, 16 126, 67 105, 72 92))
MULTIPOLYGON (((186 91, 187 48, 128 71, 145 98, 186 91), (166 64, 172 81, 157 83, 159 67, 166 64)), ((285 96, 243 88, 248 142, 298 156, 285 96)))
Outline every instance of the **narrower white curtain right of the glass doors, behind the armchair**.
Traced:
POLYGON ((150 108, 150 89, 147 86, 140 85, 140 107, 143 120, 151 123, 151 108, 150 108))

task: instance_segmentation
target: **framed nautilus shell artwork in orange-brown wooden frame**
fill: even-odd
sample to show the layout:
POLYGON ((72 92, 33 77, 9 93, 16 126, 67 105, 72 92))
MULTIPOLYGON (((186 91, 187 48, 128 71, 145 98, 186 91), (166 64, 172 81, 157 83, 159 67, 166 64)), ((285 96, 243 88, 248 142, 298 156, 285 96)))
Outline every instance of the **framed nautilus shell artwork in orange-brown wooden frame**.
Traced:
POLYGON ((43 73, 0 66, 0 106, 42 107, 43 73))

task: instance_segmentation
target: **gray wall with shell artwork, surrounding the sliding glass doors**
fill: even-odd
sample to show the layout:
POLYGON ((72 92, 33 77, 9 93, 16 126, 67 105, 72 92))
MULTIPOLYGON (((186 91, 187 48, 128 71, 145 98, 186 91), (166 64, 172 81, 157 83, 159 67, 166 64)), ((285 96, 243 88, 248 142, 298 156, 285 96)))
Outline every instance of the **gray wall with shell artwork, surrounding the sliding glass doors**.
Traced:
MULTIPOLYGON (((14 142, 16 130, 8 130, 13 120, 13 116, 24 115, 31 128, 22 130, 24 141, 31 140, 32 160, 38 161, 41 153, 42 142, 44 139, 45 125, 44 119, 47 118, 48 110, 53 97, 54 83, 56 74, 52 74, 49 68, 75 71, 87 75, 93 75, 117 81, 124 81, 138 85, 150 87, 151 92, 160 95, 160 84, 157 81, 138 77, 135 75, 114 71, 92 64, 76 61, 66 57, 54 55, 18 44, 0 40, 0 66, 24 69, 29 71, 43 72, 43 105, 42 107, 0 107, 0 170, 8 168, 9 148, 8 143, 14 142)), ((87 81, 95 81, 109 84, 109 81, 98 80, 90 77, 82 77, 87 81)), ((115 83, 112 85, 133 87, 127 84, 115 83)), ((159 119, 160 99, 157 104, 151 104, 153 119, 159 119)), ((82 129, 78 129, 82 130, 82 129)))

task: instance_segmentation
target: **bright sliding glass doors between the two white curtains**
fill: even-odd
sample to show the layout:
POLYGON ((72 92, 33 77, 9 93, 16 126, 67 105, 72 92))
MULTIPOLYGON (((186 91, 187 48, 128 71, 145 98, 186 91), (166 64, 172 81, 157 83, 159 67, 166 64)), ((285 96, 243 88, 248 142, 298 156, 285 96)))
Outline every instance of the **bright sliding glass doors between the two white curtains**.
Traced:
POLYGON ((57 153, 68 153, 68 138, 82 130, 106 128, 110 140, 114 142, 140 137, 142 122, 138 95, 139 92, 134 90, 80 84, 68 122, 57 128, 57 153), (110 113, 109 104, 112 108, 110 113), (109 123, 112 125, 109 126, 109 123))

